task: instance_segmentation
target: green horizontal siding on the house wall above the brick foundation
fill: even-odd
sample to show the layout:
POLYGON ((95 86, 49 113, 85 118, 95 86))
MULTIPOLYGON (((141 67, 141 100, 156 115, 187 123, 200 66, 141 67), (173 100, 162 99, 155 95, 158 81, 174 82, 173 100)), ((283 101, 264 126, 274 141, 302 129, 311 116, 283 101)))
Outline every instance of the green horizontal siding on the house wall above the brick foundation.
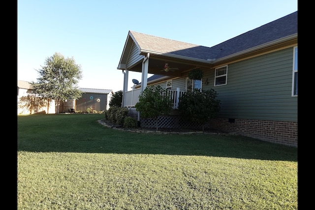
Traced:
POLYGON ((220 118, 297 121, 297 97, 292 97, 293 47, 231 63, 227 85, 214 87, 214 69, 207 71, 209 85, 221 100, 220 118))

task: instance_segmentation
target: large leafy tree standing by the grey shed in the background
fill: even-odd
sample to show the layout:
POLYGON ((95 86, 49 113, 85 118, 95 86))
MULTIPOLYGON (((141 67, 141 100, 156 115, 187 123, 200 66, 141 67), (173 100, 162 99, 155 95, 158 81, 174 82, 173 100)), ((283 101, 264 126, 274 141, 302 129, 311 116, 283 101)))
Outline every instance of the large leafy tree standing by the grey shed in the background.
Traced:
POLYGON ((82 78, 81 66, 73 58, 64 58, 60 53, 55 53, 41 67, 37 70, 40 75, 37 82, 32 82, 31 85, 36 94, 48 100, 48 104, 55 100, 56 113, 59 114, 61 101, 82 96, 82 91, 77 87, 82 78))

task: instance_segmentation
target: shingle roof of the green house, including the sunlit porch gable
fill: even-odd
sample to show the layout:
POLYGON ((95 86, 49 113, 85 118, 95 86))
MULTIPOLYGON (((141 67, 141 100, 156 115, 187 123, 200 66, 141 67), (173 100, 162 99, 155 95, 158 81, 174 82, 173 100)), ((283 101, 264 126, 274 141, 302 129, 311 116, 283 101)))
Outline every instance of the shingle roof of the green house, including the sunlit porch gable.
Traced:
POLYGON ((191 59, 218 60, 277 39, 297 34, 297 11, 213 47, 199 46, 135 31, 129 32, 136 40, 142 52, 169 54, 191 59))

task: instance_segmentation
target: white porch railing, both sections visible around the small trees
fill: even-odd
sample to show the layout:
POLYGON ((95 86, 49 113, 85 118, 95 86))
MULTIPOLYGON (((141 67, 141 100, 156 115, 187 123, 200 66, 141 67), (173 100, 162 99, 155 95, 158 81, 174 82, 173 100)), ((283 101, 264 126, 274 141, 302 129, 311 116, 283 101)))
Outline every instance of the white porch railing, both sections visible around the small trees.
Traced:
MULTIPOLYGON (((182 96, 186 91, 182 91, 179 88, 176 90, 167 90, 170 94, 173 109, 178 108, 179 97, 182 96)), ((125 92, 125 107, 134 107, 136 103, 139 102, 140 89, 130 90, 125 92)))

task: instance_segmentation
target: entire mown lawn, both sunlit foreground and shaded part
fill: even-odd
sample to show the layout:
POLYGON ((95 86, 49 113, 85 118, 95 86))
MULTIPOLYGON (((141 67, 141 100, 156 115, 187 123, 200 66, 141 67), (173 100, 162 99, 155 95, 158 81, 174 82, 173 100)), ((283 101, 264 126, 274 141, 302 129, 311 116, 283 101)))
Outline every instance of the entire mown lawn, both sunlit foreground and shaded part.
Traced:
POLYGON ((18 116, 18 210, 296 210, 297 148, 18 116))

